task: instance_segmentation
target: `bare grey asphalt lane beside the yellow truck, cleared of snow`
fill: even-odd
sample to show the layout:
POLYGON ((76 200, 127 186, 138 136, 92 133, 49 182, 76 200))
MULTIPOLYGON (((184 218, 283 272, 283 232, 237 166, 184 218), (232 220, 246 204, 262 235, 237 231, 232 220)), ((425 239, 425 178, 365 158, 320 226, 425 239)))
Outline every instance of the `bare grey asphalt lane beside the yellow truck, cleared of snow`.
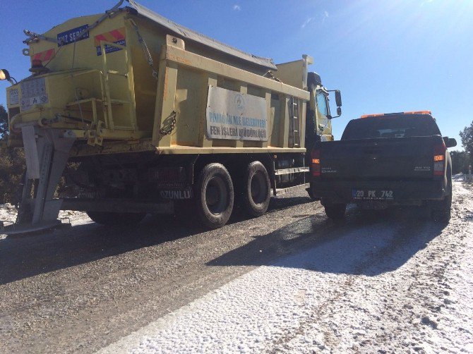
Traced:
POLYGON ((336 227, 305 191, 234 214, 216 231, 148 216, 0 239, 0 352, 90 353, 336 227))

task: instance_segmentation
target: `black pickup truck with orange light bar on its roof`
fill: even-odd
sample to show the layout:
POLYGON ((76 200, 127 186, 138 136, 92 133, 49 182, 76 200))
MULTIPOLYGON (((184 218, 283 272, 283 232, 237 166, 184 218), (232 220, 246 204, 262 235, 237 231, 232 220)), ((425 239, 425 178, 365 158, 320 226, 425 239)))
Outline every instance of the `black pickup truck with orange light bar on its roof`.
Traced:
POLYGON ((311 192, 331 219, 347 204, 363 209, 428 205, 436 221, 450 219, 452 162, 430 111, 371 114, 349 121, 340 141, 311 151, 311 192))

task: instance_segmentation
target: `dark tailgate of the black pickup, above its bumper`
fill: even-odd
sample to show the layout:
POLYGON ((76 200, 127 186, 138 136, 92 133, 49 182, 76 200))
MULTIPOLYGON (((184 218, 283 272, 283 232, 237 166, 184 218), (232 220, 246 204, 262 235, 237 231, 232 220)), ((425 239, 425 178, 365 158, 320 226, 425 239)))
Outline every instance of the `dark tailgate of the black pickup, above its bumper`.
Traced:
POLYGON ((434 138, 320 142, 321 179, 431 178, 434 138))

